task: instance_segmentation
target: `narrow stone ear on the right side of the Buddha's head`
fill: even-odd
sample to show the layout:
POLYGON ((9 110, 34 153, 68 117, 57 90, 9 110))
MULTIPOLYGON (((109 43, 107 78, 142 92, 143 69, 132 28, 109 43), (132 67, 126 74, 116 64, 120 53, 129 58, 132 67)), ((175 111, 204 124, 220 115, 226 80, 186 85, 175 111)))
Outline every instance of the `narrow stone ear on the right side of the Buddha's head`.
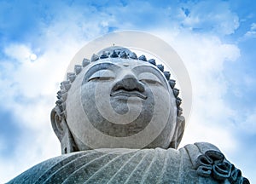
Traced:
POLYGON ((179 143, 183 138, 184 129, 185 129, 185 118, 183 116, 178 116, 176 129, 169 147, 177 149, 179 143))

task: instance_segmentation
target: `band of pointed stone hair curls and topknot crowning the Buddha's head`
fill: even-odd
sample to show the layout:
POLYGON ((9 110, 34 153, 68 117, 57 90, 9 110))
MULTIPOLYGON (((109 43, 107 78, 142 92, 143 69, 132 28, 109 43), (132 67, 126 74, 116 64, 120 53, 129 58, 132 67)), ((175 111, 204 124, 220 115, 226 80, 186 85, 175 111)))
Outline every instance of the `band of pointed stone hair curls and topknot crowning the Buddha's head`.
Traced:
POLYGON ((88 66, 91 62, 95 62, 96 60, 104 60, 107 58, 121 58, 121 59, 132 59, 132 60, 143 60, 148 62, 154 66, 156 66, 161 72, 163 72, 164 76, 166 77, 173 95, 176 98, 176 105, 177 105, 177 117, 182 115, 183 109, 180 107, 182 99, 178 97, 179 89, 175 88, 176 81, 171 78, 171 73, 164 71, 163 65, 157 65, 154 59, 147 60, 145 55, 141 55, 137 57, 134 52, 131 52, 130 49, 126 49, 123 47, 113 46, 107 49, 102 49, 99 53, 93 54, 91 59, 84 59, 82 61, 82 65, 75 65, 74 72, 67 72, 67 80, 61 82, 61 90, 57 92, 57 101, 55 102, 56 106, 59 107, 60 112, 59 114, 61 117, 66 118, 66 103, 67 100, 67 91, 71 88, 71 85, 75 78, 79 75, 79 73, 83 70, 85 66, 88 66))

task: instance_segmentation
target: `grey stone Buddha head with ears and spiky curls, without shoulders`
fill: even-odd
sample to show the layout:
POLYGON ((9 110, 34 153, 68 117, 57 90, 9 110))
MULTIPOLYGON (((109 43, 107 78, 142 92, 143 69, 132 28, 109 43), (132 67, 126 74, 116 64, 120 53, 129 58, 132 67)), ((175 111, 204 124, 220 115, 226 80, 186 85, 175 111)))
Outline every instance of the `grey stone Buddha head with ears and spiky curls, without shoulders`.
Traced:
POLYGON ((61 152, 177 148, 184 130, 170 73, 129 49, 103 49, 67 73, 51 124, 61 152))

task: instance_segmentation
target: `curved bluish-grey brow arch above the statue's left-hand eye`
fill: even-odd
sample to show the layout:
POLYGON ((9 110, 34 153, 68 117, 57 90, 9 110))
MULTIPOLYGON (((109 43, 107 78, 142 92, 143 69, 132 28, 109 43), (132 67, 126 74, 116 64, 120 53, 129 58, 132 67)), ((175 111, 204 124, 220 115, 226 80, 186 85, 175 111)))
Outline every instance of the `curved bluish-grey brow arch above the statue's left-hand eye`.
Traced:
POLYGON ((113 71, 114 69, 119 69, 120 66, 117 66, 113 63, 108 63, 108 62, 105 62, 105 63, 99 63, 99 64, 96 64, 95 66, 91 66, 90 69, 84 74, 84 79, 83 79, 83 82, 87 82, 88 79, 90 78, 90 76, 92 74, 94 74, 95 72, 98 72, 98 71, 101 71, 101 70, 111 70, 113 71))

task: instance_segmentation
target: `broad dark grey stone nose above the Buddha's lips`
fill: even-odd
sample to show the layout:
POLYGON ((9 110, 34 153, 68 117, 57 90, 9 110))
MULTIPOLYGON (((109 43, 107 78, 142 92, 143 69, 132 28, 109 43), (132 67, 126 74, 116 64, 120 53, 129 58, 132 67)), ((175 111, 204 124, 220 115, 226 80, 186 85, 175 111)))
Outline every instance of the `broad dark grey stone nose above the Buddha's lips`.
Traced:
POLYGON ((127 91, 137 90, 141 93, 144 92, 145 88, 143 83, 137 80, 132 74, 127 74, 119 82, 115 84, 113 90, 124 89, 127 91))

